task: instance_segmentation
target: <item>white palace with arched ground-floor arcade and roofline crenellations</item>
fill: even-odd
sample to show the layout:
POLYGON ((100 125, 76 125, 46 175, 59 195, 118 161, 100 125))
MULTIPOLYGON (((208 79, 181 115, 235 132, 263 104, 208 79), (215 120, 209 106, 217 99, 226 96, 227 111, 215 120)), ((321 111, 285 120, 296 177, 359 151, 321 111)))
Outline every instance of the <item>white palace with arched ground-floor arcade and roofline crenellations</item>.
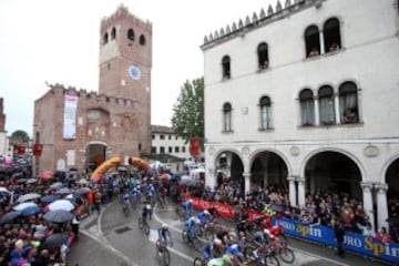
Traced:
POLYGON ((228 165, 246 192, 284 186, 291 205, 347 192, 386 225, 399 195, 398 6, 277 1, 205 37, 206 184, 228 165))

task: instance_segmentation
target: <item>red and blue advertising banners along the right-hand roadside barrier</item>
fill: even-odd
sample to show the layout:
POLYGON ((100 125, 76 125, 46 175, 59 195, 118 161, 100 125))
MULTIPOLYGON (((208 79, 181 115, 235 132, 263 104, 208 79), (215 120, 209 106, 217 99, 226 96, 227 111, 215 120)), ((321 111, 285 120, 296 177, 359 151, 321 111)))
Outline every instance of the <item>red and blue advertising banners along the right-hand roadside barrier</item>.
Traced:
MULTIPOLYGON (((186 196, 186 200, 193 201, 193 207, 205 209, 215 207, 221 216, 234 217, 234 207, 228 204, 209 202, 200 197, 186 196)), ((265 216, 265 214, 247 209, 249 221, 265 216)), ((331 227, 314 224, 301 224, 289 218, 274 218, 273 225, 282 225, 287 235, 300 237, 309 241, 324 243, 329 246, 336 246, 335 233, 331 227)), ((382 260, 399 262, 399 244, 383 244, 377 238, 365 237, 359 234, 346 232, 344 237, 344 248, 366 256, 376 257, 382 260)))

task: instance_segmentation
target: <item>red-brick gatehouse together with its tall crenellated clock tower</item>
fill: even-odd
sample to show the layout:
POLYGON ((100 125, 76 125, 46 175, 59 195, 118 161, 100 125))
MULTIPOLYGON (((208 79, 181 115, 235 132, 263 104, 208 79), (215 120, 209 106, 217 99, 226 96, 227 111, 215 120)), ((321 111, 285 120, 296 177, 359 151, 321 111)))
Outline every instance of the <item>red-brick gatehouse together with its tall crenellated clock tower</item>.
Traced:
POLYGON ((121 6, 101 21, 99 93, 51 84, 34 102, 34 171, 86 168, 110 155, 151 150, 152 24, 121 6), (65 99, 73 96, 73 137, 65 139, 65 99))

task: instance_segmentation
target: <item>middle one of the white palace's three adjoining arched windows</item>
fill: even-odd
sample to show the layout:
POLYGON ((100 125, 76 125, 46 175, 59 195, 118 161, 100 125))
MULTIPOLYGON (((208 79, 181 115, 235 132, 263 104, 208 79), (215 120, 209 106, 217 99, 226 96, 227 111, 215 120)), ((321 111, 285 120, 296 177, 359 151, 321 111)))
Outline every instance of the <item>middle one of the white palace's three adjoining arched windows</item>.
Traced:
POLYGON ((334 90, 328 85, 324 85, 318 91, 320 124, 335 124, 335 104, 334 90))

